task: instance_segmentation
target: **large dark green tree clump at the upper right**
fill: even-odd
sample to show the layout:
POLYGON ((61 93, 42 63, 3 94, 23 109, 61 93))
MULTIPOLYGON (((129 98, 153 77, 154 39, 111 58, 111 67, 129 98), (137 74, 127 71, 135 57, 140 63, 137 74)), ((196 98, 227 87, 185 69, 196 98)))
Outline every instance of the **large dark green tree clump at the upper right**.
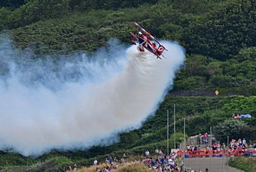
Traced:
POLYGON ((188 53, 225 61, 241 48, 255 47, 255 13, 253 3, 226 1, 216 5, 184 30, 188 53))

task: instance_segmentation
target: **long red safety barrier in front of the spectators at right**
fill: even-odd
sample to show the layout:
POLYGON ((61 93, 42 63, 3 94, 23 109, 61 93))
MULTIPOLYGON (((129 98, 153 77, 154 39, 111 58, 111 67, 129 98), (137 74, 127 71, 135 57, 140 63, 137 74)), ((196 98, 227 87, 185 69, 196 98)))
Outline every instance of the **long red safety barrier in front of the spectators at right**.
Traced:
MULTIPOLYGON (((245 153, 247 153, 248 150, 228 150, 228 156, 243 156, 245 153)), ((177 156, 181 157, 184 156, 183 150, 177 151, 177 156)), ((215 157, 221 157, 221 156, 227 156, 227 150, 186 150, 185 151, 185 157, 208 157, 208 156, 215 156, 215 157)))

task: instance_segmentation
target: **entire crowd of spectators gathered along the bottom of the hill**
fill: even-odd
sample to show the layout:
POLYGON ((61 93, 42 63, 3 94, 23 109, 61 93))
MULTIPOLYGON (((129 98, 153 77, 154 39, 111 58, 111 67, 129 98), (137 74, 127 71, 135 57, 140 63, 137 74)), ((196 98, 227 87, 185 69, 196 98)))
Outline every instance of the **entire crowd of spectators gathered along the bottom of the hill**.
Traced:
MULTIPOLYGON (((190 143, 187 145, 185 151, 185 157, 195 157, 195 156, 240 156, 246 154, 246 150, 251 148, 256 151, 256 144, 247 145, 246 139, 239 138, 238 140, 232 139, 228 144, 228 149, 225 143, 214 142, 208 144, 208 133, 199 134, 199 139, 197 144, 190 143), (203 152, 203 154, 199 154, 203 152)), ((116 156, 112 158, 109 156, 106 158, 105 165, 102 165, 99 168, 97 159, 93 161, 93 166, 95 167, 95 172, 112 172, 115 169, 118 169, 119 166, 122 166, 126 163, 141 163, 144 164, 149 169, 152 169, 154 172, 189 172, 191 169, 185 169, 184 163, 182 162, 183 150, 172 151, 169 156, 165 155, 162 150, 155 150, 155 153, 150 154, 149 150, 145 150, 144 158, 136 161, 127 161, 127 156, 124 154, 119 160, 116 156), (179 154, 182 153, 182 154, 179 154)), ((76 164, 74 165, 74 170, 76 170, 76 164)), ((59 170, 56 169, 56 172, 59 171, 72 171, 72 168, 69 166, 69 169, 59 170)), ((207 170, 206 170, 207 171, 207 170)))

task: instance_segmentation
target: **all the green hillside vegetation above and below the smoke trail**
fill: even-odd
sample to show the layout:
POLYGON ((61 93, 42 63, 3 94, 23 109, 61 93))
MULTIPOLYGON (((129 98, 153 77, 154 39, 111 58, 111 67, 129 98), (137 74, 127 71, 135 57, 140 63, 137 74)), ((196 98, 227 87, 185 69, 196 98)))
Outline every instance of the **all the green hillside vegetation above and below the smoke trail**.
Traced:
MULTIPOLYGON (((90 150, 52 150, 42 156, 29 157, 31 168, 43 171, 71 163, 81 167, 92 164, 95 157, 104 162, 106 156, 121 157, 124 152, 129 156, 142 155, 145 149, 165 150, 166 110, 172 110, 174 104, 177 143, 182 142, 184 119, 188 136, 209 132, 209 126, 216 126, 215 135, 223 140, 227 126, 235 124, 240 135, 230 132, 229 137, 246 136, 251 142, 256 140, 256 6, 253 0, 3 0, 0 3, 1 34, 10 35, 18 50, 29 48, 35 58, 46 54, 90 53, 106 46, 113 37, 128 46, 133 21, 157 38, 178 41, 186 49, 186 66, 177 73, 174 89, 140 129, 120 133, 119 143, 94 146, 90 150), (220 92, 218 96, 214 94, 216 89, 220 92), (234 121, 233 113, 250 113, 253 118, 234 121)), ((0 74, 4 73, 4 64, 0 61, 0 74)), ((173 145, 172 138, 170 145, 173 145)), ((0 152, 2 169, 24 168, 22 165, 27 160, 11 150, 0 152)), ((253 160, 239 161, 246 164, 253 160)), ((236 159, 234 162, 233 165, 240 164, 236 159)), ((253 170, 255 168, 248 169, 253 170)))

